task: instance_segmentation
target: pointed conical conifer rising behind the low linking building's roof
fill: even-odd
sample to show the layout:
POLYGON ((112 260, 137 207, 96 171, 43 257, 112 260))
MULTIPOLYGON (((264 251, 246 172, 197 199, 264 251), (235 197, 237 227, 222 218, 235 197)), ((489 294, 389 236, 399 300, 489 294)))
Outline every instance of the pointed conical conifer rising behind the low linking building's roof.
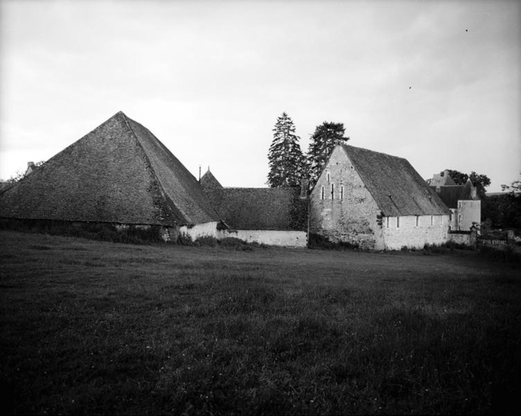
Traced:
POLYGON ((306 157, 299 144, 300 137, 295 135, 292 119, 285 112, 277 118, 273 129, 273 141, 267 159, 270 172, 267 184, 272 188, 296 187, 306 171, 306 157))

